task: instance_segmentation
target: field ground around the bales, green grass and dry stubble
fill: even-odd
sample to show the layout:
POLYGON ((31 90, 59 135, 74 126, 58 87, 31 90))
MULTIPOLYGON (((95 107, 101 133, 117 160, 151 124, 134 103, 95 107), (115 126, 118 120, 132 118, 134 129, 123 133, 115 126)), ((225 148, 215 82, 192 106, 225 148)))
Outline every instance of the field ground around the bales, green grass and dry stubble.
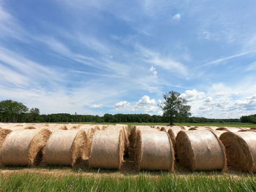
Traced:
MULTIPOLYGON (((163 125, 167 123, 126 123, 163 125)), ((181 125, 181 124, 178 124, 181 125)), ((187 123, 182 125, 187 126, 187 123)), ((253 124, 199 124, 189 126, 255 127, 253 124)), ((4 166, 0 191, 256 191, 256 175, 230 169, 225 172, 136 171, 129 162, 121 170, 85 166, 4 166)))

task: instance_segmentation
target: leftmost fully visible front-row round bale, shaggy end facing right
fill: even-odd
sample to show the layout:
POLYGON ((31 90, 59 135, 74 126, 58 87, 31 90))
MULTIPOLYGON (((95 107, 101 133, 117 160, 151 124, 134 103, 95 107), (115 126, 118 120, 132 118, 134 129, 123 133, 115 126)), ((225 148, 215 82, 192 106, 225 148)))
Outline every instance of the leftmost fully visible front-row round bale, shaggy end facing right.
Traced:
POLYGON ((4 139, 0 152, 3 165, 37 165, 42 160, 42 149, 50 137, 48 129, 12 131, 4 139))

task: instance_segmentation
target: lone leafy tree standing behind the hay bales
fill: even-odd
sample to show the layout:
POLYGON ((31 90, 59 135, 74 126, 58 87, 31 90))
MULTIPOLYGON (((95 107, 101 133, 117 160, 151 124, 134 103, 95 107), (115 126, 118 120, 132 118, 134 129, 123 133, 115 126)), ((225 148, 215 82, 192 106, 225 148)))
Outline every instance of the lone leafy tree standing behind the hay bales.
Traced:
POLYGON ((175 91, 170 91, 164 94, 165 101, 160 104, 164 112, 164 116, 170 118, 170 126, 173 126, 173 118, 183 116, 187 118, 191 115, 190 106, 187 105, 187 100, 181 98, 181 94, 175 91))

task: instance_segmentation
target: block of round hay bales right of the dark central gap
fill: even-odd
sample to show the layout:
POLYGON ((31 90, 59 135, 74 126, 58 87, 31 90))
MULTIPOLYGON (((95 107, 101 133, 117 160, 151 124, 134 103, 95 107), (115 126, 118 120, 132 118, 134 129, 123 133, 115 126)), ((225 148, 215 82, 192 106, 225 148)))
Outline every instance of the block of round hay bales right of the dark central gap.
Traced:
POLYGON ((256 172, 255 128, 209 126, 132 126, 138 169, 256 172), (170 142, 171 141, 171 142, 170 142))

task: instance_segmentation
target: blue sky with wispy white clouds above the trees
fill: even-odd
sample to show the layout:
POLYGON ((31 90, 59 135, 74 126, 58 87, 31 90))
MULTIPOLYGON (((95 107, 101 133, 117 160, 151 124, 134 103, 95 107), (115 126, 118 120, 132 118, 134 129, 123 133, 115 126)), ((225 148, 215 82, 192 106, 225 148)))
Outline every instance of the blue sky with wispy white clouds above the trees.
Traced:
POLYGON ((0 100, 42 114, 256 113, 254 0, 0 0, 0 100))

